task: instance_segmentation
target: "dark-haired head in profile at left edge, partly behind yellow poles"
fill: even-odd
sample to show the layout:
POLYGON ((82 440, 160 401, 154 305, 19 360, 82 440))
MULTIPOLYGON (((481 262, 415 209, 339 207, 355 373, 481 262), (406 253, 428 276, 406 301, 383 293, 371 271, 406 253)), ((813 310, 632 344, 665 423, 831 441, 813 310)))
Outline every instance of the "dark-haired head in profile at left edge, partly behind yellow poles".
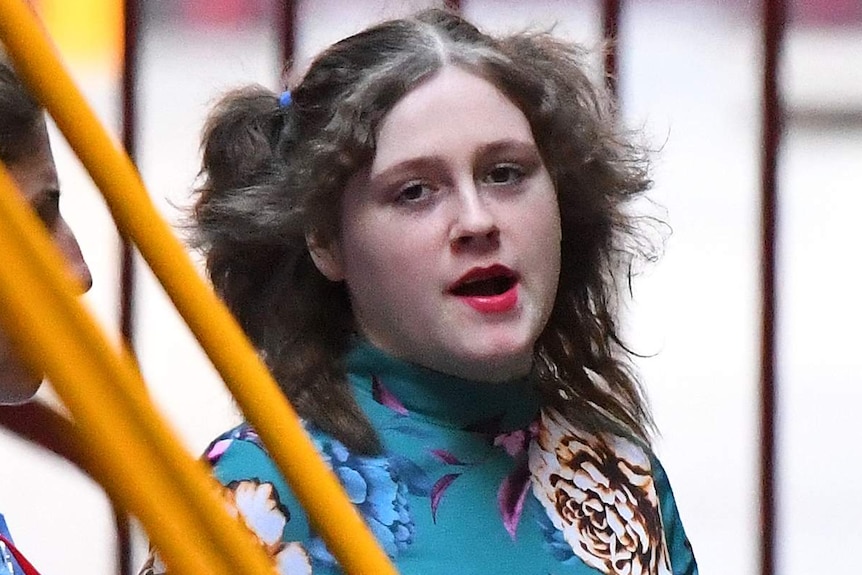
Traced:
MULTIPOLYGON (((66 258, 84 292, 90 270, 78 241, 59 209, 60 184, 44 110, 21 84, 12 68, 0 60, 0 161, 12 176, 66 258)), ((16 358, 0 331, 0 403, 26 401, 36 393, 42 376, 16 358)))

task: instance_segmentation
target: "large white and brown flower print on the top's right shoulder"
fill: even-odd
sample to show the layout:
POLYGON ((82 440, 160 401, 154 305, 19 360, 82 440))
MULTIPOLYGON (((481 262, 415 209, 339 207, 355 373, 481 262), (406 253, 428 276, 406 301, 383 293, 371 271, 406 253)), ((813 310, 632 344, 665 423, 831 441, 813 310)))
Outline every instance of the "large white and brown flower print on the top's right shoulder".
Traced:
POLYGON ((575 555, 607 575, 670 575, 646 452, 542 414, 530 446, 533 493, 575 555))

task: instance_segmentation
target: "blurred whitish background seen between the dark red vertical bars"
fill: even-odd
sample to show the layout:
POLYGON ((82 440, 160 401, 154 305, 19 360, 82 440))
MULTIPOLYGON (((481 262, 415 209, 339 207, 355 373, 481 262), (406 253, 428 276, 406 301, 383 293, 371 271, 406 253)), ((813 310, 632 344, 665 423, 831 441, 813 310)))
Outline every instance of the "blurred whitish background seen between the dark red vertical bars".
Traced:
MULTIPOLYGON (((434 4, 299 2, 296 67, 374 21, 434 4)), ((554 27, 600 43, 598 1, 461 4, 490 30, 554 27)), ((121 0, 34 5, 119 134, 121 0)), ((862 543, 862 0, 789 5, 780 62, 775 572, 852 573, 862 543)), ((137 160, 169 221, 179 223, 189 203, 200 130, 219 95, 251 82, 279 89, 278 8, 276 0, 142 3, 137 160)), ((627 335, 646 356, 639 367, 661 430, 656 451, 701 573, 713 575, 758 572, 760 9, 744 0, 628 0, 618 32, 624 118, 657 150, 652 197, 673 228, 664 257, 634 284, 627 335)), ((116 333, 119 239, 98 191, 54 136, 62 208, 94 276, 86 302, 116 333)), ((153 397, 197 454, 239 415, 161 287, 146 266, 138 272, 136 352, 153 397)), ((40 397, 55 401, 50 385, 40 397)), ((4 430, 0 455, 0 510, 37 567, 116 573, 101 488, 4 430)), ((135 568, 144 550, 136 533, 135 568)))

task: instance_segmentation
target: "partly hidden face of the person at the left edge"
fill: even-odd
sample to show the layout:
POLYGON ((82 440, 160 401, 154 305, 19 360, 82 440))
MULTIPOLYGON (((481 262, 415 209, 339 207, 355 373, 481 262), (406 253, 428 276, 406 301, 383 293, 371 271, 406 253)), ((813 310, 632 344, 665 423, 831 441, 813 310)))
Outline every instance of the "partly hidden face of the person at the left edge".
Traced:
MULTIPOLYGON (((7 165, 6 169, 48 228, 54 244, 77 278, 81 293, 84 293, 90 289, 93 280, 78 241, 60 214, 60 184, 44 123, 40 128, 38 144, 35 154, 7 165)), ((0 332, 0 403, 18 403, 30 399, 39 389, 41 381, 41 374, 30 373, 17 361, 10 342, 0 332)))

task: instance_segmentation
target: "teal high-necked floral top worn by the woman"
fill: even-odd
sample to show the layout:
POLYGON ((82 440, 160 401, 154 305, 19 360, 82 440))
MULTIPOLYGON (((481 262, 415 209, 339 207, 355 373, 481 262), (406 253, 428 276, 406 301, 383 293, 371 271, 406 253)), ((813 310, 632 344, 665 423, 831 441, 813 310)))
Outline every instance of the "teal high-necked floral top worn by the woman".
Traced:
MULTIPOLYGON (((540 412, 526 381, 476 383, 366 344, 348 377, 384 445, 308 431, 403 575, 696 575, 664 471, 629 439, 540 412)), ((256 433, 205 456, 282 575, 342 571, 256 433)), ((151 557, 145 573, 164 570, 151 557)))

